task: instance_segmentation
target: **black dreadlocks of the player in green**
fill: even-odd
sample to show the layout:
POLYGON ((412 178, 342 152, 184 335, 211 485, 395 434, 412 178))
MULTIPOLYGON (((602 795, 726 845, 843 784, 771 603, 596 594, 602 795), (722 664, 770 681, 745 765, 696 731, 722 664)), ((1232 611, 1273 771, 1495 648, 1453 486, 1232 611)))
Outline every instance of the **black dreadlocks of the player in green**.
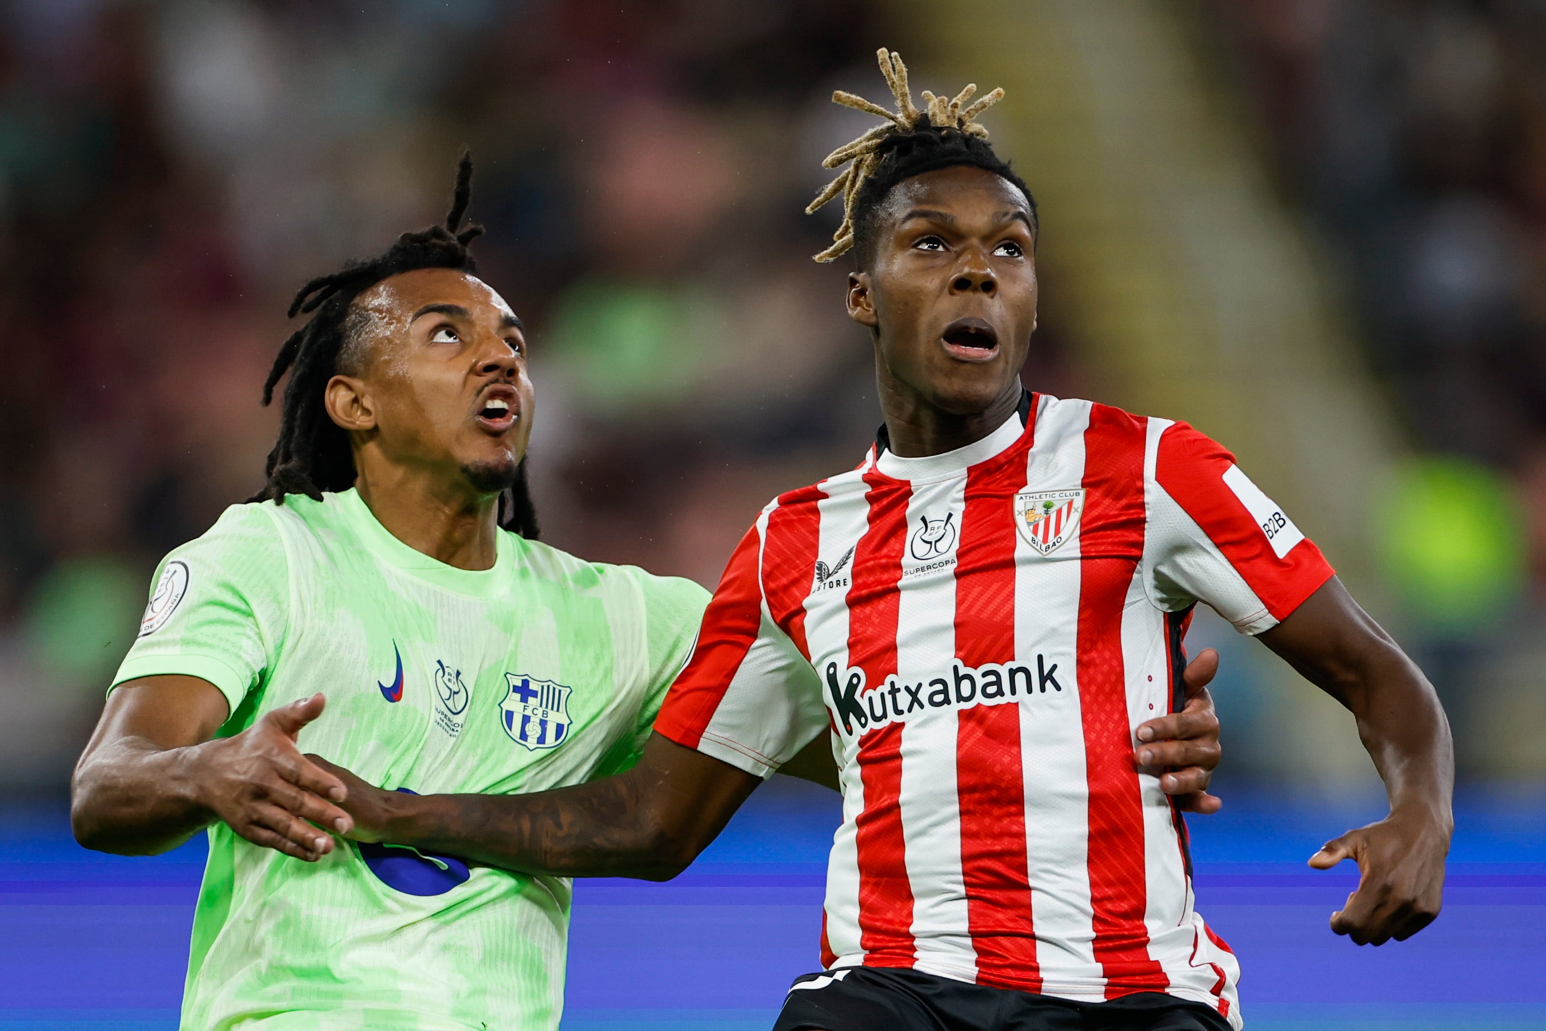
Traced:
MULTIPOLYGON (((352 345, 362 326, 349 318, 349 306, 362 292, 399 272, 416 269, 458 269, 478 275, 468 246, 482 235, 478 224, 462 227, 472 199, 473 158, 464 151, 456 168, 456 193, 444 226, 404 233, 386 253, 369 261, 349 261, 332 275, 318 275, 300 288, 291 301, 289 317, 315 312, 291 334, 263 383, 263 403, 274 400, 274 386, 291 373, 284 386, 280 436, 264 465, 267 482, 249 501, 284 504, 286 495, 306 495, 322 501, 322 493, 348 490, 354 484, 354 454, 349 436, 328 417, 323 390, 328 380, 352 362, 352 345)), ((499 498, 499 526, 527 539, 536 539, 536 507, 526 479, 526 459, 515 484, 499 498)))

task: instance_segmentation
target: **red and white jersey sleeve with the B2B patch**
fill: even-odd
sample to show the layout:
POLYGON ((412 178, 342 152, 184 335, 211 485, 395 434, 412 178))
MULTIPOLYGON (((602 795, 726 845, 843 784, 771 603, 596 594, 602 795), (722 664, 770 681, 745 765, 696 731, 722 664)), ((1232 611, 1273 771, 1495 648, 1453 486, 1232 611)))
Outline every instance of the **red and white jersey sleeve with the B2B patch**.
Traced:
POLYGON ((1167 424, 1149 458, 1144 573, 1160 607, 1204 601, 1241 634, 1260 634, 1333 577, 1320 549, 1221 445, 1167 424))

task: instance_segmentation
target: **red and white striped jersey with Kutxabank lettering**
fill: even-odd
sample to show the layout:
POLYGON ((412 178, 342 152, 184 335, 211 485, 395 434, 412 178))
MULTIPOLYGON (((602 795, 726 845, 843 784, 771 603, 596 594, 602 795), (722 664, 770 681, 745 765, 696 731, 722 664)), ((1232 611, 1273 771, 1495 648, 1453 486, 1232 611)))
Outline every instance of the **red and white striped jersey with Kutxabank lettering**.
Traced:
POLYGON ((656 730, 759 776, 830 731, 826 966, 1161 991, 1238 1026, 1133 731, 1181 705, 1197 601, 1258 634, 1330 577, 1197 430, 1028 394, 976 444, 877 445, 764 509, 656 730))

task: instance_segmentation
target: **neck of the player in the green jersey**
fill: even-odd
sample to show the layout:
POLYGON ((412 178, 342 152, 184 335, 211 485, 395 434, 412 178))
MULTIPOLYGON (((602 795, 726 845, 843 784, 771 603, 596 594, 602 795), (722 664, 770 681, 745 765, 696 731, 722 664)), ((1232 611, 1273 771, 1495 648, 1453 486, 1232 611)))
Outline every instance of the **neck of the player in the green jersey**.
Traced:
POLYGON ((376 521, 416 552, 456 569, 493 569, 499 499, 482 498, 438 470, 391 465, 354 481, 376 521))

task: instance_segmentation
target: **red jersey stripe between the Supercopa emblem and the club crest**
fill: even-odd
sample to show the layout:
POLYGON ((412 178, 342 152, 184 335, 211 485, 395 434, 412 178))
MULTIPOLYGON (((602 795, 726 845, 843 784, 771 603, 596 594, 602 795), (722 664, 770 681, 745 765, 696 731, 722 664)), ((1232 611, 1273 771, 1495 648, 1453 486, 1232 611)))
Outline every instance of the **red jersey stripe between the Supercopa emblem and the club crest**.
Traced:
MULTIPOLYGON (((955 655, 963 666, 1014 662, 1013 507, 1023 487, 1023 445, 966 471, 955 552, 955 655)), ((1025 858, 1020 706, 977 705, 957 720, 962 876, 979 982, 1039 992, 1025 858)))

